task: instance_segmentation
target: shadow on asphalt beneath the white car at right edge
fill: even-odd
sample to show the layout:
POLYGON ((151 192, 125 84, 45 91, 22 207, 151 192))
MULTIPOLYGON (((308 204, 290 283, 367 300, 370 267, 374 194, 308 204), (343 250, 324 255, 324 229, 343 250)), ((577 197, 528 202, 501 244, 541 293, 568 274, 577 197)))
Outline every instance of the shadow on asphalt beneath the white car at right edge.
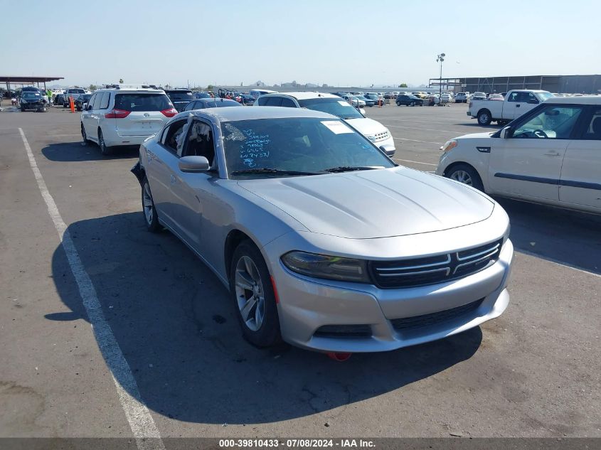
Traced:
POLYGON ((601 274, 601 215, 495 200, 509 214, 516 251, 601 274))

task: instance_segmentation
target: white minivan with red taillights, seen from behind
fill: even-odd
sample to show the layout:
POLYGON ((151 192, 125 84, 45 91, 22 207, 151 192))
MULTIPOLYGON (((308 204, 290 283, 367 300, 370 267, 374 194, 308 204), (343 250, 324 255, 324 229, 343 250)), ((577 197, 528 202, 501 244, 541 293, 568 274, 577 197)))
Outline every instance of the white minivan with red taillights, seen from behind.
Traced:
POLYGON ((113 146, 142 144, 176 114, 163 90, 100 89, 84 105, 81 135, 107 155, 113 146))

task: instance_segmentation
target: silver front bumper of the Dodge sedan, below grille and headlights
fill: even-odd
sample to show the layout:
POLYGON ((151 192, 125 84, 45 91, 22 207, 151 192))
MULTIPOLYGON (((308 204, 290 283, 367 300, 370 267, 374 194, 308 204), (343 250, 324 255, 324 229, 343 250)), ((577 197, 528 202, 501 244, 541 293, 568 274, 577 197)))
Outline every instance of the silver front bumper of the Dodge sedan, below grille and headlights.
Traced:
POLYGON ((513 253, 508 239, 496 263, 481 272, 405 289, 303 277, 278 260, 271 269, 280 297, 282 338, 310 350, 354 353, 395 350, 461 333, 505 311, 513 253), (459 314, 443 312, 449 310, 459 314), (404 327, 395 321, 419 317, 429 319, 404 327), (439 320, 432 321, 432 317, 439 320), (321 326, 341 325, 368 326, 371 336, 316 336, 321 326))

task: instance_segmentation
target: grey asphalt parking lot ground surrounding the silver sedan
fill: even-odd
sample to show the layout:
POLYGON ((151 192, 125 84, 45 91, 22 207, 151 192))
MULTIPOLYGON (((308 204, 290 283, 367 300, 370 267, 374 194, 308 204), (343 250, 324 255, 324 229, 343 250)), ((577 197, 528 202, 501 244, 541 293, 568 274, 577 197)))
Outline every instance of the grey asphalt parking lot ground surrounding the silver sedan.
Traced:
MULTIPOLYGON (((433 171, 447 139, 497 129, 466 110, 366 114, 390 128, 400 164, 433 171)), ((243 341, 212 272, 145 230, 137 150, 102 157, 80 141, 66 109, 0 113, 0 436, 132 436, 136 405, 122 399, 136 391, 163 437, 601 436, 600 217, 499 199, 516 248, 506 312, 336 363, 243 341), (57 214, 133 385, 92 332, 57 214)))

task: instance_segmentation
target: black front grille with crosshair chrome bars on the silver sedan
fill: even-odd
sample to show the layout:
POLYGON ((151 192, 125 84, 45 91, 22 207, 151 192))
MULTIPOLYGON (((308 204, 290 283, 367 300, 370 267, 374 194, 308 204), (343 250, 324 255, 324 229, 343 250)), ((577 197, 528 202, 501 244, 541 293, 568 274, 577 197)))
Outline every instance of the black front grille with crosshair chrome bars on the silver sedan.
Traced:
POLYGON ((425 286, 467 277, 499 259, 503 240, 460 252, 433 257, 371 261, 369 269, 376 286, 383 289, 425 286))

